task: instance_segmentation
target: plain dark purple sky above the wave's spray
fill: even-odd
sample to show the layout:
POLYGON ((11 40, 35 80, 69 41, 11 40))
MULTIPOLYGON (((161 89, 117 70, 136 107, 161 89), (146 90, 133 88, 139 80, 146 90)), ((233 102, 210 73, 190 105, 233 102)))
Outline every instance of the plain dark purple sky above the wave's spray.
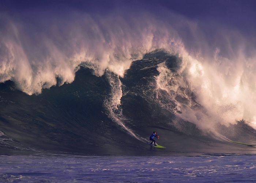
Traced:
POLYGON ((0 10, 1 12, 19 14, 31 10, 61 13, 75 9, 82 12, 105 14, 113 9, 121 8, 125 9, 127 13, 143 9, 153 14, 161 14, 161 9, 165 8, 191 19, 211 19, 245 32, 254 32, 256 28, 255 7, 256 1, 254 0, 2 0, 0 10))

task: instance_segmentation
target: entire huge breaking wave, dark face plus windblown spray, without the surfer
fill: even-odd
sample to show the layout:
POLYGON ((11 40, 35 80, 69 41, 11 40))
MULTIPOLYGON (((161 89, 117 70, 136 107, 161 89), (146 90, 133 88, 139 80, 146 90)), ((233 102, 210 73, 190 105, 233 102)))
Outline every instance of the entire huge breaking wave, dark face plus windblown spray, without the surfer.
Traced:
POLYGON ((200 24, 165 10, 168 19, 149 12, 33 13, 0 18, 6 151, 132 153, 154 129, 166 146, 174 136, 173 143, 187 140, 188 151, 199 139, 205 151, 205 144, 241 133, 254 142, 255 48, 239 32, 223 29, 211 44, 200 24))

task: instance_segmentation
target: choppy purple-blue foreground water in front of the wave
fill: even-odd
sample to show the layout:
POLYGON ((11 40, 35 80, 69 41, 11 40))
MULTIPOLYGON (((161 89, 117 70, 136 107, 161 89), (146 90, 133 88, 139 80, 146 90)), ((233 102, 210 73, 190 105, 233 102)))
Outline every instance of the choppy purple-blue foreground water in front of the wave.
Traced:
POLYGON ((255 182, 255 155, 1 155, 0 182, 255 182))

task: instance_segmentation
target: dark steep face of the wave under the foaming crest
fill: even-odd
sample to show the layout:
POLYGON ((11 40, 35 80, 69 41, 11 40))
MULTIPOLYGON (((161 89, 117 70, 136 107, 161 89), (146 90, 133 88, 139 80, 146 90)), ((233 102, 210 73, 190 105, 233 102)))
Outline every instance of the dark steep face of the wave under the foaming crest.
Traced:
MULTIPOLYGON (((216 139, 182 119, 184 108, 206 109, 189 84, 179 84, 181 63, 175 55, 151 52, 134 61, 123 77, 108 69, 95 76, 84 63, 74 82, 43 89, 38 95, 25 94, 13 81, 1 83, 1 152, 244 153, 243 147, 216 139), (145 143, 152 131, 161 135, 158 142, 167 147, 165 151, 145 143)), ((255 130, 244 122, 219 124, 218 133, 232 140, 255 140, 255 130)))

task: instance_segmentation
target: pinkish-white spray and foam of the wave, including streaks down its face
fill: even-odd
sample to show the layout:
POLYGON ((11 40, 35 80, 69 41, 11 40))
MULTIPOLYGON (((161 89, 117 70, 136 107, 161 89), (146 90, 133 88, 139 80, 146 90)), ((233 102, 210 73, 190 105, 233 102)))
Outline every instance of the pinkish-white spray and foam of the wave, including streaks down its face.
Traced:
POLYGON ((175 116, 177 128, 182 131, 179 121, 192 122, 219 140, 228 139, 219 125, 244 120, 255 128, 256 49, 250 35, 166 9, 159 14, 143 9, 131 15, 116 9, 105 14, 1 13, 0 82, 14 81, 32 97, 72 83, 81 65, 93 69, 109 84, 103 104, 108 117, 145 141, 125 124, 130 116, 123 114, 120 78, 133 61, 147 61, 145 54, 161 51, 175 58, 157 64, 149 96, 175 116))

